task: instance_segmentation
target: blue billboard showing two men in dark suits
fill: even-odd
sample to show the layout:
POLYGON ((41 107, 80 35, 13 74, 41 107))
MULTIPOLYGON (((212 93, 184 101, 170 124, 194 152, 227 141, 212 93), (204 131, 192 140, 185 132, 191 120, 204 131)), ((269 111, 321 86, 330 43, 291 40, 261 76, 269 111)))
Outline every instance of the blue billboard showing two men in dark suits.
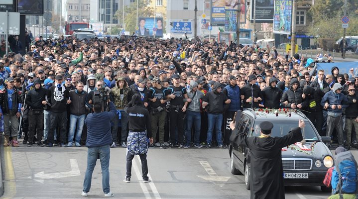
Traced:
POLYGON ((138 36, 152 37, 155 32, 155 37, 163 37, 163 25, 162 17, 155 17, 155 22, 154 17, 139 17, 138 36))

